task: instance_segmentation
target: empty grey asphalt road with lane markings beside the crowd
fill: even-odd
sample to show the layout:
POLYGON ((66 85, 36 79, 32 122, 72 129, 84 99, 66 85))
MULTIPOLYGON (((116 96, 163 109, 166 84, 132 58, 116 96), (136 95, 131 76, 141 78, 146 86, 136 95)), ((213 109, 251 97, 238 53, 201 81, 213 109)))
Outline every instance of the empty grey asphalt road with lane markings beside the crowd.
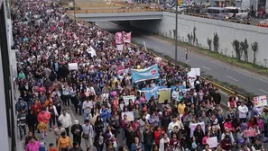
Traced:
MULTIPOLYGON (((115 24, 114 22, 96 23, 100 28, 114 33, 116 31, 129 30, 125 27, 115 24)), ((143 45, 143 41, 145 41, 147 48, 154 49, 155 51, 169 55, 171 58, 175 58, 173 44, 152 38, 150 35, 140 34, 138 32, 140 31, 133 31, 133 40, 135 42, 143 45)), ((180 61, 186 62, 184 49, 179 49, 178 58, 180 61)), ((190 67, 199 67, 201 70, 206 72, 206 75, 214 76, 219 81, 234 84, 257 95, 268 95, 268 79, 257 77, 241 70, 237 71, 231 66, 224 66, 214 60, 202 58, 198 54, 189 53, 188 59, 188 64, 190 67)))

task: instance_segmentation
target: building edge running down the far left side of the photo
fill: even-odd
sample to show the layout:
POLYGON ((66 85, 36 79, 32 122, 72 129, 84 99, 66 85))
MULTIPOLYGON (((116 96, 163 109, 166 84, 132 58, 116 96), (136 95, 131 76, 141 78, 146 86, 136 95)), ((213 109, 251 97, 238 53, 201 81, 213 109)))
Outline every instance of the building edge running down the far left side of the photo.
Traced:
POLYGON ((16 66, 16 62, 11 61, 15 52, 11 50, 12 23, 8 8, 8 2, 0 0, 0 147, 3 151, 19 151, 12 74, 12 65, 16 66))

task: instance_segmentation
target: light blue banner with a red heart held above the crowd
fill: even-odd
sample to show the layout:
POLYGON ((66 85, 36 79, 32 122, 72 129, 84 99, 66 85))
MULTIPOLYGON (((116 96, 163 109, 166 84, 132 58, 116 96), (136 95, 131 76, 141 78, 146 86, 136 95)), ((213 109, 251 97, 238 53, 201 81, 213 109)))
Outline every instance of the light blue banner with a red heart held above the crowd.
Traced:
POLYGON ((131 76, 132 76, 132 82, 134 83, 145 80, 156 79, 159 77, 158 66, 153 65, 152 67, 144 69, 132 69, 131 76))

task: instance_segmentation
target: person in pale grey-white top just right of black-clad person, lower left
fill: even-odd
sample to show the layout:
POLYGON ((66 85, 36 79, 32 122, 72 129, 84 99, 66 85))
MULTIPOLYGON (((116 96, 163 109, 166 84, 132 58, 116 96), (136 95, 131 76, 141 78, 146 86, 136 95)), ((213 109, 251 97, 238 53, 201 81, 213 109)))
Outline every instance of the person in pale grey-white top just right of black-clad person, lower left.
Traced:
POLYGON ((85 124, 82 125, 83 133, 82 138, 85 140, 86 147, 93 147, 94 130, 89 120, 85 120, 85 124))

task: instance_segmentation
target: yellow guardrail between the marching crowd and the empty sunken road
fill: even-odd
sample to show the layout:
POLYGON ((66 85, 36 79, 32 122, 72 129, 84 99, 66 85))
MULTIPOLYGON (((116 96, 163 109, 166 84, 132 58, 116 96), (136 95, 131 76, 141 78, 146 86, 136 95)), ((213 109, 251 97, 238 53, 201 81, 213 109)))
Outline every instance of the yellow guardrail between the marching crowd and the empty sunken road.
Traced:
MULTIPOLYGON (((73 15, 71 15, 71 14, 68 14, 69 15, 69 17, 70 18, 74 18, 74 16, 73 15)), ((79 20, 80 22, 85 22, 84 20, 81 20, 81 19, 79 19, 79 18, 77 18, 77 20, 79 20)), ((88 25, 91 25, 89 22, 86 22, 88 25)), ((136 45, 134 45, 133 43, 131 43, 131 45, 132 46, 136 46, 136 45)), ((156 55, 156 54, 154 54, 154 53, 152 53, 153 54, 153 56, 155 56, 155 57, 159 57, 158 55, 156 55)), ((166 60, 165 58, 162 58, 165 62, 169 62, 168 60, 166 60)), ((175 65, 174 63, 171 63, 173 66, 175 65)), ((200 76, 200 78, 202 79, 202 80, 205 80, 206 79, 206 77, 204 77, 204 76, 200 76)), ((213 82, 213 81, 211 81, 211 80, 209 80, 215 87, 217 87, 218 89, 220 89, 220 90, 222 90, 222 91, 224 91, 224 92, 226 92, 228 95, 230 95, 230 94, 232 94, 232 95, 234 95, 234 94, 237 94, 237 96, 239 97, 239 98, 241 98, 241 99, 244 99, 245 100, 245 96, 243 95, 243 94, 241 94, 241 93, 236 93, 235 91, 233 91, 233 90, 231 90, 230 88, 228 88, 228 87, 226 87, 226 86, 223 86, 223 85, 221 85, 221 84, 217 84, 216 82, 213 82)), ((252 100, 252 102, 253 102, 253 100, 252 100)), ((268 110, 268 106, 264 106, 264 110, 268 110)))

